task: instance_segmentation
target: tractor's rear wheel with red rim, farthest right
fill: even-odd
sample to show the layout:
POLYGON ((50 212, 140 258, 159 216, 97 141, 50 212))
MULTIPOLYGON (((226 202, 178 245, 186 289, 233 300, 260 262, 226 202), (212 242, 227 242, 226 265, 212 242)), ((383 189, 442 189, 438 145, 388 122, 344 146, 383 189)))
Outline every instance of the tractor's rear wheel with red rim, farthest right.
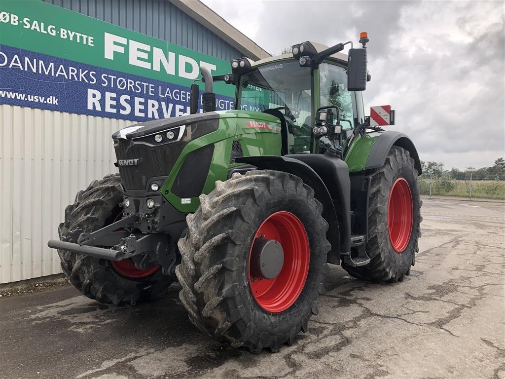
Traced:
POLYGON ((397 282, 410 274, 419 252, 422 201, 418 172, 407 150, 393 146, 372 174, 368 210, 368 265, 342 267, 354 277, 397 282))

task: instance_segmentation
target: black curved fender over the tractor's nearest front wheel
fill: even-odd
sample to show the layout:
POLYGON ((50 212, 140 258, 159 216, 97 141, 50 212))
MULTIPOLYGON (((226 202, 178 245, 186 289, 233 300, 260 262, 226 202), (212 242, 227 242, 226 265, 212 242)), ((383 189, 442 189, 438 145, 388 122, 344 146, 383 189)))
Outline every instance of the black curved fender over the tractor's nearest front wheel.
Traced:
MULTIPOLYGON (((304 154, 300 154, 304 155, 304 154)), ((326 188, 325 183, 309 165, 298 159, 279 156, 259 156, 242 157, 235 160, 239 163, 254 165, 259 169, 270 169, 288 172, 298 176, 307 185, 314 189, 314 197, 323 205, 323 218, 328 222, 329 228, 326 232, 326 239, 331 244, 331 251, 328 253, 328 262, 340 264, 340 232, 338 227, 337 214, 333 206, 332 198, 326 188)), ((350 241, 350 236, 348 238, 350 241)), ((347 243, 350 246, 350 242, 347 243)), ((345 251, 349 251, 349 248, 345 251)))

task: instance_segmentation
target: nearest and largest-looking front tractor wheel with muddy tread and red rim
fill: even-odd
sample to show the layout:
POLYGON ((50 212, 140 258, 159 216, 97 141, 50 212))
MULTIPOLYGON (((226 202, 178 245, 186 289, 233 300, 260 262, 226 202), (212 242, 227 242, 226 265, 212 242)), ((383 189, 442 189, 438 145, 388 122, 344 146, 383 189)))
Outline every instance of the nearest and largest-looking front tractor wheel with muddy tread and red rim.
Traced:
POLYGON ((328 223, 313 189, 284 172, 249 171, 217 181, 200 202, 178 243, 176 274, 189 319, 215 339, 255 353, 292 344, 318 313, 328 270, 328 223), (284 250, 273 279, 257 278, 250 264, 261 239, 284 250))

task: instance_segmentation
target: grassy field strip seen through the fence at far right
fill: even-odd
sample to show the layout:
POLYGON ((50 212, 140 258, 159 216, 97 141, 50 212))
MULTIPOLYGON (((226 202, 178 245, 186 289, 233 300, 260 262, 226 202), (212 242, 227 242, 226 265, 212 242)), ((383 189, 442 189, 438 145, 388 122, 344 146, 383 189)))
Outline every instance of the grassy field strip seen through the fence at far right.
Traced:
MULTIPOLYGON (((419 178, 421 194, 430 194, 430 179, 419 178)), ((432 180, 432 195, 470 197, 470 180, 441 177, 432 180)), ((472 180, 472 198, 505 200, 504 180, 472 180)))

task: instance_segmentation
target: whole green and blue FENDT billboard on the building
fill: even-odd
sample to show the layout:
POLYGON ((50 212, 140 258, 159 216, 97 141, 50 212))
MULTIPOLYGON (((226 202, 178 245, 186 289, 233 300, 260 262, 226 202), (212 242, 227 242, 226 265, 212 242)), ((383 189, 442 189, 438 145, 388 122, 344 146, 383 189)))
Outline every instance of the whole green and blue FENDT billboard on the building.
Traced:
MULTIPOLYGON (((189 113, 199 66, 230 71, 227 61, 40 0, 0 3, 0 104, 134 121, 175 117, 189 113)), ((233 109, 234 87, 214 87, 217 109, 233 109)))

